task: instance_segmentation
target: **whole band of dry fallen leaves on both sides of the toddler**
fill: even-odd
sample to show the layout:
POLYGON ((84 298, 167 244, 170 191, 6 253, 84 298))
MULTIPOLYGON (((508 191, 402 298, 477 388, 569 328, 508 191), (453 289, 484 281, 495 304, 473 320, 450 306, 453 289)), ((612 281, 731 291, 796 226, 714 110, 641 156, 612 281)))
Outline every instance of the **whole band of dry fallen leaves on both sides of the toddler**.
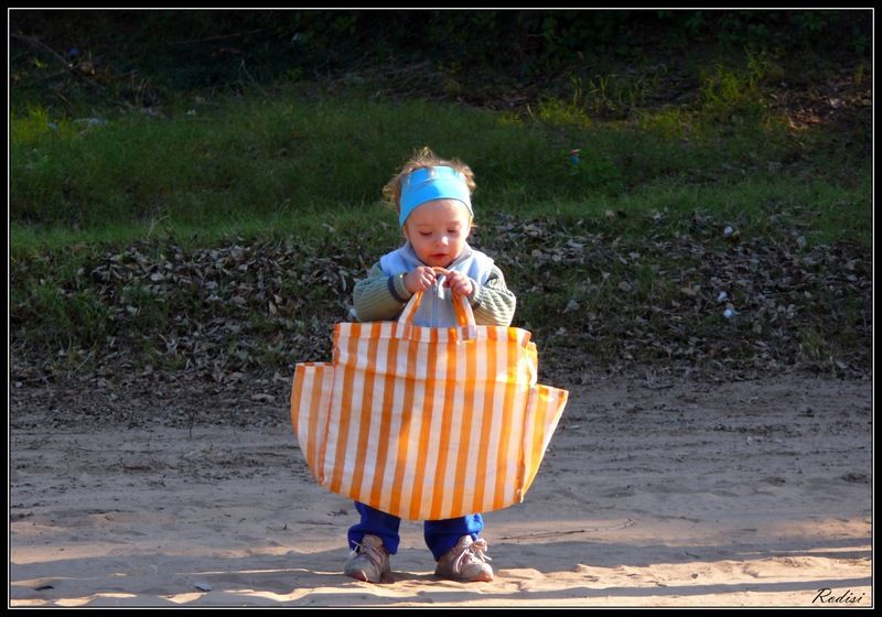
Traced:
MULTIPOLYGON (((869 249, 807 247, 799 235, 730 241, 698 216, 686 234, 659 229, 641 240, 615 232, 624 223, 599 225, 509 216, 475 238, 518 296, 515 325, 534 332, 545 370, 869 374, 869 249)), ((87 289, 107 335, 72 335, 47 353, 29 337, 40 316, 13 301, 13 380, 58 370, 58 354, 77 348, 85 359, 65 370, 107 379, 154 371, 225 385, 255 372, 286 379, 297 361, 330 358, 332 326, 348 318, 353 283, 378 257, 354 232, 299 246, 238 240, 185 250, 155 241, 96 256, 53 283, 65 294, 87 289)), ((13 286, 33 275, 29 264, 12 261, 13 286)))

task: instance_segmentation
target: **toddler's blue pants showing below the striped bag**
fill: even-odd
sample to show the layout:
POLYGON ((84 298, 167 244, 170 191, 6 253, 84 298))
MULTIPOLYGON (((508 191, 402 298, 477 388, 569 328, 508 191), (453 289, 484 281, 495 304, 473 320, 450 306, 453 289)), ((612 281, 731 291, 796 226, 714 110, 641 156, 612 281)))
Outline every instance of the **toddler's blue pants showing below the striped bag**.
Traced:
MULTIPOLYGON (((349 548, 355 550, 355 545, 362 542, 365 533, 369 533, 383 539, 383 545, 389 553, 397 553, 398 526, 401 519, 358 501, 355 502, 355 509, 362 515, 362 521, 349 528, 349 548)), ((456 545, 460 538, 471 535, 472 540, 477 540, 477 534, 483 529, 484 519, 481 515, 467 515, 458 519, 426 521, 423 537, 426 545, 434 555, 434 561, 438 561, 456 545)))

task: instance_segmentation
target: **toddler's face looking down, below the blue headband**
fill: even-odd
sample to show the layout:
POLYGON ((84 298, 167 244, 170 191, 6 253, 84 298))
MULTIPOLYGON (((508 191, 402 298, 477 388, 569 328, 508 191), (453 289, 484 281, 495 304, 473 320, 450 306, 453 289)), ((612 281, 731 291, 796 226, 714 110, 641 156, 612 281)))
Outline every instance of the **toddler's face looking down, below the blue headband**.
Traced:
POLYGON ((465 247, 472 228, 465 205, 434 199, 417 207, 405 221, 405 237, 426 266, 450 266, 465 247))

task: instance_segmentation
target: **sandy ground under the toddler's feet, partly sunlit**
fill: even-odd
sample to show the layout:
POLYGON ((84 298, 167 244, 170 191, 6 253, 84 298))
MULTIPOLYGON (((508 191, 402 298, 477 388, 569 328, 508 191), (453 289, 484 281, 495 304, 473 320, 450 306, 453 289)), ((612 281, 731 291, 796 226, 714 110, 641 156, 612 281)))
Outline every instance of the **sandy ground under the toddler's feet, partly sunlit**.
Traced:
POLYGON ((58 426, 63 402, 29 400, 11 393, 11 606, 873 604, 870 381, 572 388, 526 501, 485 517, 477 584, 432 575, 418 522, 392 582, 344 577, 356 512, 312 480, 283 402, 245 429, 58 426))

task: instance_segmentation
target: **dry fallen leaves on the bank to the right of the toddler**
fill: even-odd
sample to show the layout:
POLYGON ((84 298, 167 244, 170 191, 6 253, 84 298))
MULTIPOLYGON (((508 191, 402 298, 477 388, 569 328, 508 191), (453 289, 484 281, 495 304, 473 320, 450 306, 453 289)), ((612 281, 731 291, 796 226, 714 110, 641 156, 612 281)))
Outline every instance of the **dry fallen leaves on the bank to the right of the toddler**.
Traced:
POLYGON ((509 219, 487 238, 506 256, 518 317, 545 344, 546 368, 578 375, 649 365, 723 379, 870 370, 867 248, 808 248, 796 232, 733 239, 698 215, 674 237, 660 229, 627 240, 610 227, 509 219), (519 257, 524 246, 529 259, 519 257))

